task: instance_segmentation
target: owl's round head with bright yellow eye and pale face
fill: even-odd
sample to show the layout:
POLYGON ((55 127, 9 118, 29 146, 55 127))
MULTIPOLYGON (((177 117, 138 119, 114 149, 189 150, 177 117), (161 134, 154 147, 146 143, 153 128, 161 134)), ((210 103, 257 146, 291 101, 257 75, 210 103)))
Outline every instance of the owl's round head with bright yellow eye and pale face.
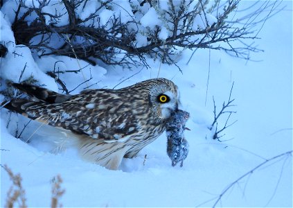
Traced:
POLYGON ((153 79, 150 88, 150 106, 160 119, 168 119, 172 112, 178 110, 179 93, 177 86, 165 78, 153 79))

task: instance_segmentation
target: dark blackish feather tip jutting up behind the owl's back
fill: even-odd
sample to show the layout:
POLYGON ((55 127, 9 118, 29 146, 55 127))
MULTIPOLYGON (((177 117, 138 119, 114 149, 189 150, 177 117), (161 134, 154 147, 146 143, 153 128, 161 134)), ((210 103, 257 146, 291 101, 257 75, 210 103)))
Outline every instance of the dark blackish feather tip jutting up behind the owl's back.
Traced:
POLYGON ((12 83, 12 86, 33 97, 33 100, 46 103, 63 103, 71 97, 71 95, 59 94, 44 87, 37 87, 26 83, 12 83))

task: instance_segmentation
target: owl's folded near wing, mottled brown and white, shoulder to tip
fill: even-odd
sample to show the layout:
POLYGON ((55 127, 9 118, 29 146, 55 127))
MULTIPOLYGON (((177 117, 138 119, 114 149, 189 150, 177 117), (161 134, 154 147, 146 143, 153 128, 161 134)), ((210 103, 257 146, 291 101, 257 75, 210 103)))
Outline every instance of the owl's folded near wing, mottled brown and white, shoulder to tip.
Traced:
POLYGON ((20 108, 31 119, 115 142, 125 141, 138 132, 139 123, 129 103, 115 91, 105 89, 87 90, 63 103, 30 101, 20 108))

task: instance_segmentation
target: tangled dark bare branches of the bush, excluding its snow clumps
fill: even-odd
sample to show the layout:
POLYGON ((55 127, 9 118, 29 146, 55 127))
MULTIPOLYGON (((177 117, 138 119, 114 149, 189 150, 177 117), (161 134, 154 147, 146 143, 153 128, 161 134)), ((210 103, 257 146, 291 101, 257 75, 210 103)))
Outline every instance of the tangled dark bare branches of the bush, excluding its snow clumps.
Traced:
POLYGON ((145 15, 143 7, 149 3, 159 15, 163 25, 155 28, 141 27, 139 17, 132 15, 112 0, 100 2, 100 6, 87 17, 79 18, 77 8, 85 8, 87 0, 69 1, 62 0, 64 10, 62 12, 48 13, 42 8, 50 6, 50 1, 39 0, 39 6, 28 7, 23 1, 19 2, 15 11, 15 21, 12 30, 17 44, 24 44, 31 50, 43 55, 66 55, 71 58, 85 60, 90 64, 97 64, 100 60, 108 65, 121 65, 123 67, 137 67, 144 65, 149 67, 145 58, 150 56, 161 60, 166 64, 176 64, 175 55, 179 55, 184 49, 215 49, 223 50, 238 58, 251 60, 250 52, 260 52, 250 41, 256 40, 263 24, 271 17, 278 3, 257 4, 256 9, 234 19, 240 0, 220 1, 209 3, 200 0, 193 8, 189 1, 181 1, 179 4, 168 1, 168 9, 160 8, 159 1, 142 1, 137 5, 133 13, 141 12, 139 17, 145 15), (104 8, 113 6, 121 7, 131 19, 121 21, 123 16, 115 13, 107 23, 101 24, 100 12, 104 8), (24 12, 19 12, 24 10, 24 12), (234 13, 233 13, 234 12, 234 13), (263 16, 267 12, 265 17, 263 16), (36 14, 35 20, 28 20, 32 14, 36 14), (68 24, 59 26, 57 23, 65 16, 68 24), (209 17, 213 15, 215 21, 209 17), (204 26, 196 28, 194 22, 197 17, 202 17, 204 26), (48 18, 50 21, 48 23, 48 18), (262 24, 260 29, 254 29, 262 24), (159 34, 165 26, 168 30, 166 40, 161 40, 159 34), (147 37, 148 42, 139 46, 136 35, 141 33, 147 37), (70 42, 66 40, 69 35, 70 42), (59 38, 59 40, 57 40, 59 38), (39 41, 37 41, 39 40, 39 41), (59 46, 53 46, 52 42, 60 42, 59 46), (236 46, 234 43, 243 46, 236 46))

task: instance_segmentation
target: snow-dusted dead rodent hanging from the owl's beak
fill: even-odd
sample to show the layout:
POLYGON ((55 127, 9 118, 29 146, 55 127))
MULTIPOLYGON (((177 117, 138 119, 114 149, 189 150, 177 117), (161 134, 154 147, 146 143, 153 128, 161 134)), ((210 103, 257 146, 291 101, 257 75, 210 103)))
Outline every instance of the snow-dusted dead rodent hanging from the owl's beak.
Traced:
POLYGON ((183 166, 183 161, 188 155, 188 141, 184 138, 184 130, 189 113, 184 110, 174 112, 166 123, 167 154, 172 161, 172 166, 178 162, 183 166))

